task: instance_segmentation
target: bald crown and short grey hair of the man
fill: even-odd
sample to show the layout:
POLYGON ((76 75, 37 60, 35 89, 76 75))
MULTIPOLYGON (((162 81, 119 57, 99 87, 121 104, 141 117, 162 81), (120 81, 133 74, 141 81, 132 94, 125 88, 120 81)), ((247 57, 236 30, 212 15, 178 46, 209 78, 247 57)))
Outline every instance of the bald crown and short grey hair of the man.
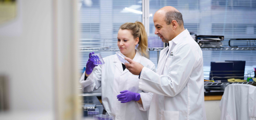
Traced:
POLYGON ((176 20, 180 26, 183 26, 182 14, 172 6, 165 6, 156 11, 154 17, 162 17, 167 25, 171 24, 172 20, 176 20))

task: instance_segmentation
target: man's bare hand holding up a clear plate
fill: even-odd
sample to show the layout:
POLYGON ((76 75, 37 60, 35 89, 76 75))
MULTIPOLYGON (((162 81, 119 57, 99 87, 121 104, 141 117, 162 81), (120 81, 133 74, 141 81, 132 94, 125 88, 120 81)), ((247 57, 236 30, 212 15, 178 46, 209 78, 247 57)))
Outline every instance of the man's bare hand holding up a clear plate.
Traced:
POLYGON ((130 62, 130 64, 124 63, 126 69, 128 69, 133 75, 140 75, 140 72, 144 66, 130 58, 125 57, 124 59, 130 62))

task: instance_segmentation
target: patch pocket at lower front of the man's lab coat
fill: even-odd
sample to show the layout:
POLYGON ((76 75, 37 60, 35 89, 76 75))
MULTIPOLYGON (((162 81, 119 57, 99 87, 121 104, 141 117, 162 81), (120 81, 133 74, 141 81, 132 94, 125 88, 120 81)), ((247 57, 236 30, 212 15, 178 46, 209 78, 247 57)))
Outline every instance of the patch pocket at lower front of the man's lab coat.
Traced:
POLYGON ((161 120, 179 120, 179 111, 161 110, 161 120))

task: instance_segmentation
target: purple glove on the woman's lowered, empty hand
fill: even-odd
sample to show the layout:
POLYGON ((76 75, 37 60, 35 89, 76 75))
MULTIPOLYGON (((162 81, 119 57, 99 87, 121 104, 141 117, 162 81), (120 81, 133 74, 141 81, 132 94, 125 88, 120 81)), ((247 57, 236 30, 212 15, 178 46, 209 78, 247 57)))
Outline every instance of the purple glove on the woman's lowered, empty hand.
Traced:
POLYGON ((127 90, 121 91, 120 93, 122 94, 119 94, 116 97, 119 101, 121 101, 121 103, 130 102, 132 100, 135 100, 135 101, 140 100, 140 93, 135 93, 127 90))

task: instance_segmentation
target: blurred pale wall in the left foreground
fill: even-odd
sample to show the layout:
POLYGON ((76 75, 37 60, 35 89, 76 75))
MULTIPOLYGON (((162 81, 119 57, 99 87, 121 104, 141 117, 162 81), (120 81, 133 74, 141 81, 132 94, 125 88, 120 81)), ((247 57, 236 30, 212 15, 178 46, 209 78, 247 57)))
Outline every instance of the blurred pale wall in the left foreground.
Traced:
POLYGON ((0 25, 0 74, 10 80, 10 109, 53 110, 52 1, 18 0, 0 25))

